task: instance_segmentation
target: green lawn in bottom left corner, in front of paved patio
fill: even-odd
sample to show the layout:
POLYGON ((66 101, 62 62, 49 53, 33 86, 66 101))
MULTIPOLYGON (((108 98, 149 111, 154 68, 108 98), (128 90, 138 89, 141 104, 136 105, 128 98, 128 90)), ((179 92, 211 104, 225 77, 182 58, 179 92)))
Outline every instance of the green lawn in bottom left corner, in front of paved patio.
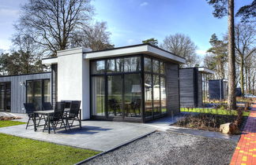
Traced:
POLYGON ((0 134, 0 148, 0 164, 73 164, 100 153, 7 134, 0 134))

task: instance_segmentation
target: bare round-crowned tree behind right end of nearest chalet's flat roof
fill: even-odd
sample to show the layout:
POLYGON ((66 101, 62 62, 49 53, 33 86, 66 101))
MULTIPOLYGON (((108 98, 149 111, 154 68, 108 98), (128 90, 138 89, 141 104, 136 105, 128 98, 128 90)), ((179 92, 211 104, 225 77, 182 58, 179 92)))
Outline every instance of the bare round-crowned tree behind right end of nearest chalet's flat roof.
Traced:
POLYGON ((195 53, 197 46, 190 39, 190 37, 176 33, 175 35, 168 35, 164 38, 164 42, 160 47, 186 58, 186 64, 181 67, 194 67, 198 64, 198 57, 195 53))

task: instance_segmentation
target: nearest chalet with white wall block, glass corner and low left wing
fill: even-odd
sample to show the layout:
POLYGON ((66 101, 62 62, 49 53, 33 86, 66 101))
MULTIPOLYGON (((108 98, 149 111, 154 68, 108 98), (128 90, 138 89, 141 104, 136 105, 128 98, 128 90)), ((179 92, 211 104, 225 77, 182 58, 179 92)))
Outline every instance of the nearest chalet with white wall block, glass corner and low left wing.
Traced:
POLYGON ((82 119, 146 122, 179 113, 179 64, 186 60, 159 47, 80 47, 42 62, 51 72, 0 77, 2 111, 24 113, 24 102, 40 108, 43 101, 80 100, 82 119))

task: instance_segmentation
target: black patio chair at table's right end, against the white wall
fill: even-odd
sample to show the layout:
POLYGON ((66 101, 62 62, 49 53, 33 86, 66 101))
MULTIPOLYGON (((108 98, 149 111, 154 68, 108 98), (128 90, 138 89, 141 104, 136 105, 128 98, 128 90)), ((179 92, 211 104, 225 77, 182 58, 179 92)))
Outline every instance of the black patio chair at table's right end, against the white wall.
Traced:
POLYGON ((70 112, 65 116, 66 125, 70 128, 73 126, 74 121, 79 122, 81 128, 81 101, 71 101, 70 112), (71 121, 71 123, 70 123, 71 121))

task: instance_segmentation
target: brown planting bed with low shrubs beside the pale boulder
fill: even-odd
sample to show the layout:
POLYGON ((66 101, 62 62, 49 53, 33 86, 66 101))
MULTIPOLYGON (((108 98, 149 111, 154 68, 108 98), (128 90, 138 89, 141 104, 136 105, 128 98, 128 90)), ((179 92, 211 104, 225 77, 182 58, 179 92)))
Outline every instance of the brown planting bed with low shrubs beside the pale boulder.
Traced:
MULTIPOLYGON (((219 132, 221 124, 233 123, 236 118, 237 116, 220 116, 200 113, 198 115, 185 116, 172 126, 219 132)), ((246 123, 246 120, 247 117, 243 117, 243 122, 239 125, 240 130, 243 130, 243 125, 246 123)))

